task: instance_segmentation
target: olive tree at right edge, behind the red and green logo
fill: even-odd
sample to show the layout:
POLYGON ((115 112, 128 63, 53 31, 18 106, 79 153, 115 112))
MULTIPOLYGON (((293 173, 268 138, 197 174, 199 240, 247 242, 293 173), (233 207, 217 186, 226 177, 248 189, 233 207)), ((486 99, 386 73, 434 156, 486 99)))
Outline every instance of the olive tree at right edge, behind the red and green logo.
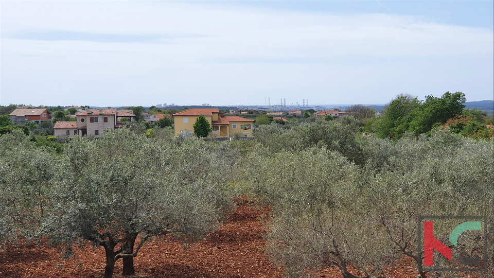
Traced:
MULTIPOLYGON (((424 251, 417 253, 419 215, 480 215, 487 217, 488 236, 483 238, 479 233, 477 239, 487 240, 486 255, 492 257, 492 141, 473 141, 442 130, 431 138, 405 135, 396 143, 369 140, 368 147, 369 162, 360 179, 365 184, 363 204, 374 203, 369 206, 368 224, 386 231, 395 245, 395 256, 405 255, 420 262, 424 251)), ((448 240, 451 231, 441 232, 439 225, 434 224, 435 236, 452 248, 448 240)), ((484 255, 483 250, 474 250, 472 242, 466 241, 452 250, 454 255, 484 255)), ((487 263, 492 273, 492 262, 487 263)), ((424 272, 419 274, 426 277, 424 272)))

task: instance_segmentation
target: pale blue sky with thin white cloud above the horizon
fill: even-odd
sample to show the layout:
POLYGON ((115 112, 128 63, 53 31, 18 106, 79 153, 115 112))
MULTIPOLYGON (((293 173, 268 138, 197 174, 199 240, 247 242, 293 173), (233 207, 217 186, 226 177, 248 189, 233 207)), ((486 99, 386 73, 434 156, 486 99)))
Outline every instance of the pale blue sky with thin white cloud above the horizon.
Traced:
POLYGON ((0 1, 0 105, 494 99, 494 1, 0 1))

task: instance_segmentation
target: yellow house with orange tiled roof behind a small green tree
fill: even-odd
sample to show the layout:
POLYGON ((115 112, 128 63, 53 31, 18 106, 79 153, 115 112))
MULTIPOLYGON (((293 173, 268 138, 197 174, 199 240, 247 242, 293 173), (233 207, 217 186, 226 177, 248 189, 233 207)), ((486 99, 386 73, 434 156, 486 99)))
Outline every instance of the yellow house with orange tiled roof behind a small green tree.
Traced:
POLYGON ((189 109, 173 114, 175 135, 193 134, 193 125, 197 118, 203 115, 213 129, 211 137, 232 137, 235 133, 240 133, 243 137, 252 137, 252 124, 254 120, 239 116, 225 116, 224 113, 215 109, 189 109))

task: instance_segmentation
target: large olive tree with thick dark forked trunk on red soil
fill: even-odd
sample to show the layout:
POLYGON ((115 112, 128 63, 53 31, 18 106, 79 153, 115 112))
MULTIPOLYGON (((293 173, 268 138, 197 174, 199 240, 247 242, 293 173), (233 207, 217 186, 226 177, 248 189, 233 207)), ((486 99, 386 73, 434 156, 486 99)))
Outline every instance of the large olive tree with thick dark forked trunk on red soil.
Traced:
POLYGON ((198 239, 231 207, 222 164, 197 140, 152 140, 127 129, 67 146, 66 177, 57 187, 44 231, 51 242, 104 248, 104 277, 133 257, 151 237, 198 239))

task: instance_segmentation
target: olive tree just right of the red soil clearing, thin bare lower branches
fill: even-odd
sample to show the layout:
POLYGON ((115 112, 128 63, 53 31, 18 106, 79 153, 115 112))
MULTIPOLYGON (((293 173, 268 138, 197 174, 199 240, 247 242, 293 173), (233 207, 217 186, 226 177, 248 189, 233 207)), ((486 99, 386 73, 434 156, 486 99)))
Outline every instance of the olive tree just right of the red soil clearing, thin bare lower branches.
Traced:
POLYGON ((356 210, 362 198, 354 186, 356 165, 317 147, 276 154, 259 148, 248 161, 252 192, 271 206, 268 253, 287 277, 321 265, 337 266, 344 278, 358 277, 349 264, 366 277, 380 272, 392 246, 382 230, 367 225, 366 211, 356 210))

